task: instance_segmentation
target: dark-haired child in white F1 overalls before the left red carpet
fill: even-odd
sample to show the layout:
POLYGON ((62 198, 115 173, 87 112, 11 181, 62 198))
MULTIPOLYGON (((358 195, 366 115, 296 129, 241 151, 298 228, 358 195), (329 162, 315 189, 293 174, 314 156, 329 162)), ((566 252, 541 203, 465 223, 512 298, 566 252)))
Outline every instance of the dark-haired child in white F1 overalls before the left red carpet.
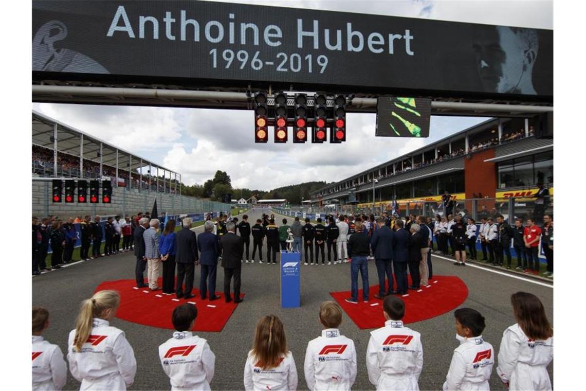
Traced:
POLYGON ((171 321, 173 338, 159 346, 163 370, 171 379, 171 390, 210 390, 216 356, 206 339, 193 335, 197 308, 193 304, 175 307, 171 321))

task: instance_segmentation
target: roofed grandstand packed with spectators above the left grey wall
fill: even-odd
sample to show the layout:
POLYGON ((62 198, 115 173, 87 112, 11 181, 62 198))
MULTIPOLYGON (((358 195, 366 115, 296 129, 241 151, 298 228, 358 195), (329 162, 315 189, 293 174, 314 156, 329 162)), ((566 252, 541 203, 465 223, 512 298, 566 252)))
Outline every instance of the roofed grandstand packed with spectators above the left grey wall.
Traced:
POLYGON ((110 179, 116 187, 181 193, 181 174, 34 110, 32 174, 41 178, 110 179))

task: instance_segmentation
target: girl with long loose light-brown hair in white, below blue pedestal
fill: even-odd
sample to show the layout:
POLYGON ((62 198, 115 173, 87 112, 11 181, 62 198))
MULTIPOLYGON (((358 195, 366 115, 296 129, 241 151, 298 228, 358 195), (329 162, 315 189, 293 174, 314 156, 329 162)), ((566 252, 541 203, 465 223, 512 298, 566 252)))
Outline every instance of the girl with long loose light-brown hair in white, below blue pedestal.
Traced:
POLYGON ((297 368, 287 349, 285 328, 275 315, 258 321, 254 345, 244 365, 244 389, 297 390, 297 368))

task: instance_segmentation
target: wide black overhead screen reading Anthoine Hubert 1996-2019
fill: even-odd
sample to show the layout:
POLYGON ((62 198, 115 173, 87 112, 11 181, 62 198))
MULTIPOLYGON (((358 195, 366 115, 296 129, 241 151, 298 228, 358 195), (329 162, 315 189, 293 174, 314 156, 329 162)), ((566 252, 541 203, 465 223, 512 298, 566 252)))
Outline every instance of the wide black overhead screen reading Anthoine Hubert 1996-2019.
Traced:
POLYGON ((225 2, 37 0, 32 36, 36 81, 553 98, 553 30, 225 2))

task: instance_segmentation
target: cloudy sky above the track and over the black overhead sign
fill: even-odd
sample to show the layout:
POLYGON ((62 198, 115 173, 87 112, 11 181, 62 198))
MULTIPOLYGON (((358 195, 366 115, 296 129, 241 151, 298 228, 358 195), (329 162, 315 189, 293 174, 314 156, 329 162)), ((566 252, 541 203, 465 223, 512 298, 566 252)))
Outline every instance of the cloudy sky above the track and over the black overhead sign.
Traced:
MULTIPOLYGON (((262 4, 553 29, 551 1, 296 0, 262 4)), ((202 184, 221 169, 231 176, 234 187, 261 190, 306 181, 338 181, 486 120, 432 117, 429 138, 376 138, 375 114, 348 114, 343 144, 292 144, 291 140, 255 144, 252 111, 45 103, 34 103, 33 109, 179 172, 188 185, 202 184)))

